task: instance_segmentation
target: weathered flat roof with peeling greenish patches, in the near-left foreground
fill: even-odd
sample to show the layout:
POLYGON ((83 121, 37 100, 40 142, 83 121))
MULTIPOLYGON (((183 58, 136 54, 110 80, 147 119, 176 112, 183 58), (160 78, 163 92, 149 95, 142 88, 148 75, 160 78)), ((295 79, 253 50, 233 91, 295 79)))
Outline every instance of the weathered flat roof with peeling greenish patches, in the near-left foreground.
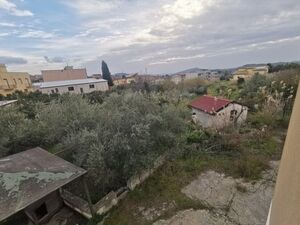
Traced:
POLYGON ((0 159, 0 221, 84 175, 42 148, 0 159))

